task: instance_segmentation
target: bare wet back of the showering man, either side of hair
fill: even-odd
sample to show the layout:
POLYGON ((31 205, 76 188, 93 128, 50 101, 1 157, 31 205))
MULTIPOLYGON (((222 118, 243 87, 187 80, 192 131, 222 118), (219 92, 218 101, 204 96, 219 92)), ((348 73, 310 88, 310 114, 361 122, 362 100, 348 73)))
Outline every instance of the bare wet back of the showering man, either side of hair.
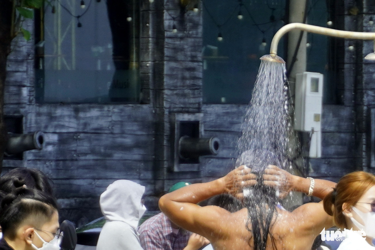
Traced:
MULTIPOLYGON (((321 206, 321 203, 305 204, 293 212, 277 209, 273 219, 275 223, 270 228, 273 240, 268 235, 266 250, 310 250, 321 230, 325 226, 332 226, 332 220, 322 213, 324 210, 321 206)), ((223 211, 221 216, 222 220, 216 225, 217 229, 211 233, 217 236, 209 238, 209 235, 206 235, 214 249, 254 250, 251 228, 250 231, 246 228, 248 210, 243 208, 232 214, 223 211)))

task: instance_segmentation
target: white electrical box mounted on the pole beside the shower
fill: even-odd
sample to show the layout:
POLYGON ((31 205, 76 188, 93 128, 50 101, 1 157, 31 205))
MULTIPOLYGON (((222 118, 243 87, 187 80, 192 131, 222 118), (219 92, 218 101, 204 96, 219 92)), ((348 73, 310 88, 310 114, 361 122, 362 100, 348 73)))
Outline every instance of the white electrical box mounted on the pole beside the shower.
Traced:
POLYGON ((310 157, 321 156, 323 74, 296 74, 294 129, 311 132, 310 157))

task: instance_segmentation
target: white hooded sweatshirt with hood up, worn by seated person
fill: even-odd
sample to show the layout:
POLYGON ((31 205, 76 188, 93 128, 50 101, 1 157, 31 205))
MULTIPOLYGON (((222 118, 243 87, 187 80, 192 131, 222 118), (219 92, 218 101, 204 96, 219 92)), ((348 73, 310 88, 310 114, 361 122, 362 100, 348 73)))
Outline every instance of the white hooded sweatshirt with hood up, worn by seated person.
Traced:
POLYGON ((96 250, 143 250, 139 243, 139 219, 145 212, 141 205, 144 186, 129 180, 117 180, 100 196, 106 222, 96 250))

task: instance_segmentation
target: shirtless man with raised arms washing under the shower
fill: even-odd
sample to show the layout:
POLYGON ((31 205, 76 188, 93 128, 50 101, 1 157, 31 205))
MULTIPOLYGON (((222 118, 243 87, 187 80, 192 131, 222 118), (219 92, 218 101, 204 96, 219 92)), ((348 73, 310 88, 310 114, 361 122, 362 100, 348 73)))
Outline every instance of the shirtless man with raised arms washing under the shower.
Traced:
MULTIPOLYGON (((217 180, 192 184, 162 196, 159 207, 175 224, 207 238, 215 250, 263 250, 262 241, 266 250, 310 250, 323 228, 333 226, 333 219, 324 211, 322 202, 304 204, 293 212, 266 204, 266 210, 270 207, 275 209, 270 210, 271 225, 268 231, 266 229, 265 236, 261 233, 263 230, 253 235, 252 232, 257 231, 252 227, 257 225, 249 221, 251 210, 248 208, 230 213, 216 206, 196 205, 221 193, 243 198, 244 187, 252 187, 257 193, 258 181, 259 177, 242 165, 217 180), (255 237, 258 237, 257 244, 255 237)), ((310 190, 310 195, 323 199, 336 185, 319 179, 315 180, 315 185, 313 183, 314 180, 291 175, 273 165, 267 166, 263 172, 263 184, 278 186, 282 193, 309 193, 310 190)))

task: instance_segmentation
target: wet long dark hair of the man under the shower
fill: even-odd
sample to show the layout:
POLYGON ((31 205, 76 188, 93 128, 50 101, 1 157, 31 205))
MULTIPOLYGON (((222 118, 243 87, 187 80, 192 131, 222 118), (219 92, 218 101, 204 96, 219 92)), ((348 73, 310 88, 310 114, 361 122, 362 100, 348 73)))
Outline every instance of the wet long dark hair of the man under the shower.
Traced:
POLYGON ((257 184, 244 189, 244 206, 248 210, 246 229, 251 232, 249 246, 254 244, 254 250, 265 250, 268 237, 273 249, 276 249, 276 240, 272 235, 272 228, 277 216, 276 205, 278 196, 275 188, 263 183, 264 170, 268 165, 280 166, 279 157, 267 150, 248 150, 239 159, 237 166, 246 165, 257 175, 257 184))

